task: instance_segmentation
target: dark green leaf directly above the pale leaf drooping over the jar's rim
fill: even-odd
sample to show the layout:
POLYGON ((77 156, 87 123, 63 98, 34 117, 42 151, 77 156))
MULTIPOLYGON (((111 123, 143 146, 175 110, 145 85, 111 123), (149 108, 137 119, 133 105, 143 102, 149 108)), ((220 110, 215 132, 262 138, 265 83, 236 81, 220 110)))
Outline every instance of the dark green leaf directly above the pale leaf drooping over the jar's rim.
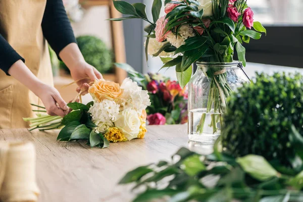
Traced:
POLYGON ((208 45, 203 45, 190 51, 184 52, 181 71, 185 71, 190 65, 196 62, 207 51, 208 45))

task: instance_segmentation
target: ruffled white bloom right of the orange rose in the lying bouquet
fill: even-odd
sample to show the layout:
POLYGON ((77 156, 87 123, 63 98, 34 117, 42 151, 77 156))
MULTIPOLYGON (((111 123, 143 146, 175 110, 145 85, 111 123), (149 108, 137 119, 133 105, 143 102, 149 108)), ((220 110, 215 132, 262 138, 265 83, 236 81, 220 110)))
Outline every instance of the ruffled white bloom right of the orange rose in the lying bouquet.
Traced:
POLYGON ((142 110, 150 105, 148 92, 142 90, 142 88, 130 78, 126 78, 123 81, 121 89, 123 89, 123 94, 118 100, 121 111, 133 109, 137 114, 141 115, 142 110))

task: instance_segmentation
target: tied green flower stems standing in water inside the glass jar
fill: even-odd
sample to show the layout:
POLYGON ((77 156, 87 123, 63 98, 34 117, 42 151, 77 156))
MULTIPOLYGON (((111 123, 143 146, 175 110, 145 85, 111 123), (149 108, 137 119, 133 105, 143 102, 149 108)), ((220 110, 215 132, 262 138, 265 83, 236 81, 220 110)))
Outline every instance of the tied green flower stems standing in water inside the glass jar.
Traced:
POLYGON ((197 132, 202 134, 205 126, 206 115, 212 113, 212 108, 214 112, 211 114, 210 127, 213 128, 213 134, 218 132, 217 123, 220 122, 222 125, 222 114, 226 110, 226 98, 232 92, 228 82, 226 70, 221 69, 212 73, 210 70, 204 72, 207 77, 211 79, 210 90, 208 94, 208 103, 206 113, 203 113, 199 124, 197 125, 197 132))

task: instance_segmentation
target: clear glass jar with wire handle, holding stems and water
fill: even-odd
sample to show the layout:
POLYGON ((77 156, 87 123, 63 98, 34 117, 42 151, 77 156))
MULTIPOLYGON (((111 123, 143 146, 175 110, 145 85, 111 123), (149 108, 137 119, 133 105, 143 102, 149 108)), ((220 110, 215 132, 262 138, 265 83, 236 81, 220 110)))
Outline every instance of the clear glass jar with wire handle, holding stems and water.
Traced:
POLYGON ((239 62, 197 63, 188 83, 188 138, 214 143, 221 133, 226 98, 232 91, 249 82, 239 62))

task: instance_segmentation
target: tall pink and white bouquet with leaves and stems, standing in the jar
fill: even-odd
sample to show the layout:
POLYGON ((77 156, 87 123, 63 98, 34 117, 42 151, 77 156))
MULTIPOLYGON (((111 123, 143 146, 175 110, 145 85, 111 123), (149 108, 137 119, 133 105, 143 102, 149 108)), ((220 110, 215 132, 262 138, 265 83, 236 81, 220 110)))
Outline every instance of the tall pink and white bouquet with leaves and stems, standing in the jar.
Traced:
MULTIPOLYGON (((254 12, 246 2, 247 0, 165 0, 165 15, 160 17, 162 1, 154 0, 151 21, 146 16, 145 5, 114 1, 115 8, 129 16, 110 20, 140 18, 147 21, 149 25, 144 28, 147 33, 146 60, 149 54, 161 58, 164 63, 162 68, 175 66, 178 81, 183 88, 192 76, 192 64, 195 62, 233 62, 236 51, 239 61, 243 66, 246 65, 242 44, 249 43, 250 39, 260 39, 261 33, 266 33, 260 22, 254 22, 254 12)), ((196 129, 200 134, 203 133, 207 114, 223 114, 226 111, 226 98, 232 92, 224 67, 219 66, 203 73, 211 87, 206 110, 196 129)), ((212 116, 211 125, 221 123, 218 117, 212 116)), ((214 127, 214 133, 216 131, 214 127)))

